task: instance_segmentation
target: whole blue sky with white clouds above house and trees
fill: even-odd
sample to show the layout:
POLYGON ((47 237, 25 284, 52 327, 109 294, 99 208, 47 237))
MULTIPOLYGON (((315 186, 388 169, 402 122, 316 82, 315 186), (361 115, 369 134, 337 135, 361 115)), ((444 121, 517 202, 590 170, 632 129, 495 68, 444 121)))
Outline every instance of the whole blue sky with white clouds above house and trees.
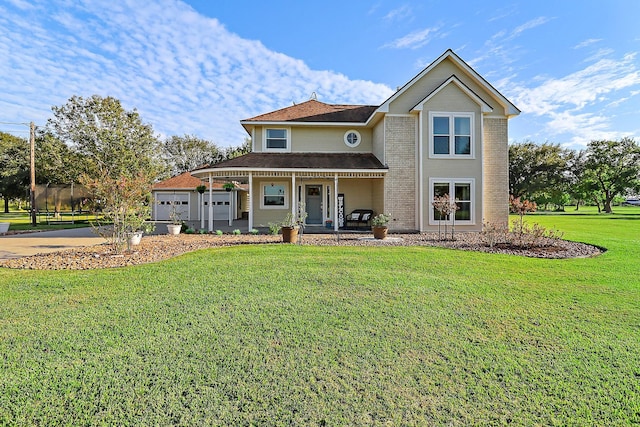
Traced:
POLYGON ((638 17, 637 0, 0 0, 0 122, 99 94, 163 137, 239 145, 241 119, 312 92, 380 104, 451 48, 522 110, 512 141, 582 148, 640 137, 638 17))

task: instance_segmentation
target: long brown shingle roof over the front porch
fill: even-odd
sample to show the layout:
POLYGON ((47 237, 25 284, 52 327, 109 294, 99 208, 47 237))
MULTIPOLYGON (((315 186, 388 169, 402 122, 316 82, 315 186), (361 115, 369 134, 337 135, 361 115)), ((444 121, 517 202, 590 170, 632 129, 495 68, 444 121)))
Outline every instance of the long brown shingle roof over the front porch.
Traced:
POLYGON ((209 168, 387 169, 371 153, 248 153, 209 168))

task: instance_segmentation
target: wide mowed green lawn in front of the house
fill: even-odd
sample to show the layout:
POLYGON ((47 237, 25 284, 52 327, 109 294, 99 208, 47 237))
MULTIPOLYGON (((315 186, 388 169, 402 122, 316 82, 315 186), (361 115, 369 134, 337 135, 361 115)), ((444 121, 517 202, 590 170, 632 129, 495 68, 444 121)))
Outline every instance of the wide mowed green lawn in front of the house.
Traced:
MULTIPOLYGON (((582 210, 582 209, 581 209, 582 210)), ((0 269, 0 425, 637 425, 640 208, 597 258, 243 246, 0 269)))

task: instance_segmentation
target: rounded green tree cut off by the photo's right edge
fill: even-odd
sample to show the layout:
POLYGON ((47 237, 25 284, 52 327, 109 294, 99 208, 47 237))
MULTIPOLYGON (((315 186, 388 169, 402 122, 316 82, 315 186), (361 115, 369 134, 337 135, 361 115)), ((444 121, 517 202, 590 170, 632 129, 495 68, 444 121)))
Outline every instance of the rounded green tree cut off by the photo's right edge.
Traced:
POLYGON ((585 177, 593 182, 611 213, 616 195, 640 188, 640 147, 631 138, 620 141, 591 141, 587 145, 585 177))

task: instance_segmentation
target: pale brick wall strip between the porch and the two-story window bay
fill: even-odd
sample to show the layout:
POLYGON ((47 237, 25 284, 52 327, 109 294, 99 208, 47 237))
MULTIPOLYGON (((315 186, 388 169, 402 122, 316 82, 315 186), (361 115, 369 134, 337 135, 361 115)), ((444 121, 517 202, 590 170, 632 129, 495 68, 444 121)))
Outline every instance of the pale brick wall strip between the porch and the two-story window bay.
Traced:
POLYGON ((390 213, 391 230, 416 230, 416 137, 417 115, 387 115, 385 159, 389 172, 385 178, 384 210, 390 213))

